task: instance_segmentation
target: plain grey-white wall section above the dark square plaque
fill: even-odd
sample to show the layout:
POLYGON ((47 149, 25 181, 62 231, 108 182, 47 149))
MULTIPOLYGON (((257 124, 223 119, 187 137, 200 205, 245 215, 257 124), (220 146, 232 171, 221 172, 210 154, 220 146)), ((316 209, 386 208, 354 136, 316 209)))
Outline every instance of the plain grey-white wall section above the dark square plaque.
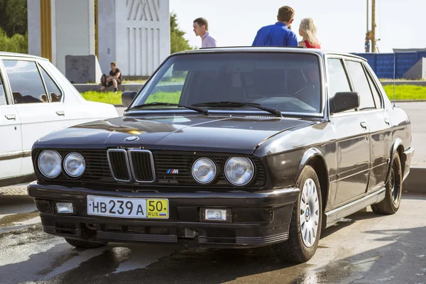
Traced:
POLYGON ((65 74, 66 55, 94 55, 94 0, 56 0, 55 16, 55 65, 65 74))

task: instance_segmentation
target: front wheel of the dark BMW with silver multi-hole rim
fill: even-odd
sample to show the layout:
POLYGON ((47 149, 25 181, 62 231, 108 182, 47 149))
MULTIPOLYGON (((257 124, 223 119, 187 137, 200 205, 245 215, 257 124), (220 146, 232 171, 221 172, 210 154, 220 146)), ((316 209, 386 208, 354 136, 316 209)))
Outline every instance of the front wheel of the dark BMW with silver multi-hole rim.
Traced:
POLYGON ((322 199, 321 187, 315 170, 307 165, 297 179, 299 198, 293 207, 289 239, 272 246, 280 261, 304 263, 317 251, 321 236, 322 199))

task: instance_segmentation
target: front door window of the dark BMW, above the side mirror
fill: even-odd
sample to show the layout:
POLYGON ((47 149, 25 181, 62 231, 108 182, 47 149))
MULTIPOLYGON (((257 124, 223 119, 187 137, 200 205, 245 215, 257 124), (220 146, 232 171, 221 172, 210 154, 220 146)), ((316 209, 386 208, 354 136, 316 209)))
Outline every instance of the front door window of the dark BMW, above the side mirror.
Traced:
POLYGON ((329 59, 327 65, 329 73, 329 97, 334 97, 334 94, 337 92, 351 92, 351 86, 344 71, 342 60, 329 59))

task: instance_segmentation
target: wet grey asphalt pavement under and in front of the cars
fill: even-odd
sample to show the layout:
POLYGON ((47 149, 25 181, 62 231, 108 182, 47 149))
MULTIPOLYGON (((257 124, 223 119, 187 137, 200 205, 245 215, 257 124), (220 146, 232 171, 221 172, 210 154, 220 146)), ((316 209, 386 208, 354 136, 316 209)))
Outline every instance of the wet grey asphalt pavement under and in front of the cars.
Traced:
POLYGON ((30 198, 0 196, 0 283, 426 283, 426 196, 392 216, 364 209, 325 229, 307 263, 270 249, 109 244, 74 249, 41 231, 30 198))

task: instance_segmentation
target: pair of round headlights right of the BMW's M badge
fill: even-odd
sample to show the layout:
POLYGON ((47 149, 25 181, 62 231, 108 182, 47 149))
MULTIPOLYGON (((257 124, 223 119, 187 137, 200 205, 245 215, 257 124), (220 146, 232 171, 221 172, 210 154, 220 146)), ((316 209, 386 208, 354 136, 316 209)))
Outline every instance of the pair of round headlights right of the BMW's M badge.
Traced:
MULTIPOLYGON (((210 158, 198 158, 192 164, 191 172, 197 182, 206 185, 216 178, 217 167, 210 158)), ((254 165, 249 158, 231 157, 224 165, 224 175, 231 185, 244 186, 253 179, 254 165)))

